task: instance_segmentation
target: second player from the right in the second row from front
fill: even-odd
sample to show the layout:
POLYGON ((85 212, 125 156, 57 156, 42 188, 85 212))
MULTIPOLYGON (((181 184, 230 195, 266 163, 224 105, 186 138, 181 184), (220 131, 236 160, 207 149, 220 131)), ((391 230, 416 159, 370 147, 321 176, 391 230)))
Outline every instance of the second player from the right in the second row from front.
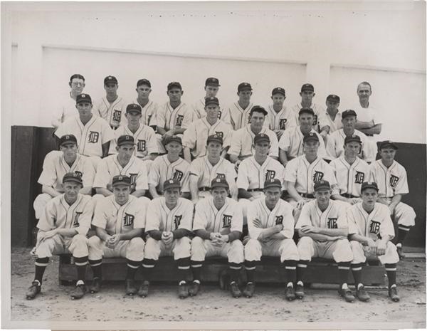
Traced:
POLYGON ((360 187, 369 179, 369 164, 357 157, 362 148, 362 140, 358 135, 345 137, 344 154, 330 163, 337 179, 339 194, 333 199, 349 204, 357 204, 360 198, 360 187))

